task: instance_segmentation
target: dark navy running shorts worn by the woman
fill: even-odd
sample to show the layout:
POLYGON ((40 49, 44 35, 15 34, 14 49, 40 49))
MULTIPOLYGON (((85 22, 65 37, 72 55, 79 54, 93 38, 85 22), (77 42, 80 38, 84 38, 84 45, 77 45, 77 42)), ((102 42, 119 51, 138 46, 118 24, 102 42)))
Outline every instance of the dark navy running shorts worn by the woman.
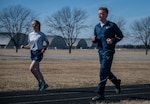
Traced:
POLYGON ((41 61, 43 59, 43 53, 41 50, 31 50, 31 60, 41 61))

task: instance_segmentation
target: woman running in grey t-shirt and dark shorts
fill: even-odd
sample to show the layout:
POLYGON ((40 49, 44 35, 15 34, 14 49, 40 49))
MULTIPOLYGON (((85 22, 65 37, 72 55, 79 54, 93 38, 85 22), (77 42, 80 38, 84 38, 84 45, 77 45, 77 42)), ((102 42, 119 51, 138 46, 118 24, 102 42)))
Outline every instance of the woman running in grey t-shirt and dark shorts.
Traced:
POLYGON ((49 41, 46 35, 40 31, 40 26, 41 24, 38 20, 32 21, 33 32, 28 35, 28 44, 21 45, 21 48, 30 48, 32 62, 30 64, 29 70, 38 81, 38 90, 44 91, 48 88, 48 84, 45 82, 44 77, 40 71, 40 62, 43 59, 43 53, 49 46, 49 41), (45 46, 43 45, 44 42, 46 43, 45 46))

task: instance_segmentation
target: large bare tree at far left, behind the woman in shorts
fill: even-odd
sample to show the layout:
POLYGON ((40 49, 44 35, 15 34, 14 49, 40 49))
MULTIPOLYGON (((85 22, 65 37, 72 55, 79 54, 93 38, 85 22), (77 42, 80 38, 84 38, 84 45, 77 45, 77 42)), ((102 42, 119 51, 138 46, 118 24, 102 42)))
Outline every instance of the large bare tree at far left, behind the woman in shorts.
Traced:
POLYGON ((0 32, 7 33, 15 45, 16 52, 21 38, 19 34, 27 34, 31 30, 31 21, 36 17, 33 14, 31 10, 21 5, 10 6, 0 12, 0 32))

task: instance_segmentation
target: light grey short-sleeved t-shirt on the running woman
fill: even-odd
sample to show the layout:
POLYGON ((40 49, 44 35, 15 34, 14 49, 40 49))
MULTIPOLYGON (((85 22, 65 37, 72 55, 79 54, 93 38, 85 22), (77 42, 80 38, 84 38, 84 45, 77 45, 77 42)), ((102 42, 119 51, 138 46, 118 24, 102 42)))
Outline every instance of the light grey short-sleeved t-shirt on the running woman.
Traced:
POLYGON ((30 42, 30 50, 41 50, 43 42, 48 41, 46 35, 42 32, 31 32, 28 35, 28 41, 30 42))

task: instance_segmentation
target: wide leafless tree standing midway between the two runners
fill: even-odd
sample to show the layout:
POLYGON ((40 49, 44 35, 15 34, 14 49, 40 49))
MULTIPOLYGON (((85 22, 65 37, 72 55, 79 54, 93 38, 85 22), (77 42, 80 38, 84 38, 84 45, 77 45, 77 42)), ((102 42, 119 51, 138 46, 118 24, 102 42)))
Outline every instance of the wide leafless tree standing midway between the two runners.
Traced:
POLYGON ((70 7, 64 7, 52 16, 49 16, 46 22, 50 27, 51 33, 57 32, 63 36, 71 54, 72 46, 76 42, 81 30, 87 28, 84 25, 86 19, 86 11, 77 8, 71 10, 70 7))

